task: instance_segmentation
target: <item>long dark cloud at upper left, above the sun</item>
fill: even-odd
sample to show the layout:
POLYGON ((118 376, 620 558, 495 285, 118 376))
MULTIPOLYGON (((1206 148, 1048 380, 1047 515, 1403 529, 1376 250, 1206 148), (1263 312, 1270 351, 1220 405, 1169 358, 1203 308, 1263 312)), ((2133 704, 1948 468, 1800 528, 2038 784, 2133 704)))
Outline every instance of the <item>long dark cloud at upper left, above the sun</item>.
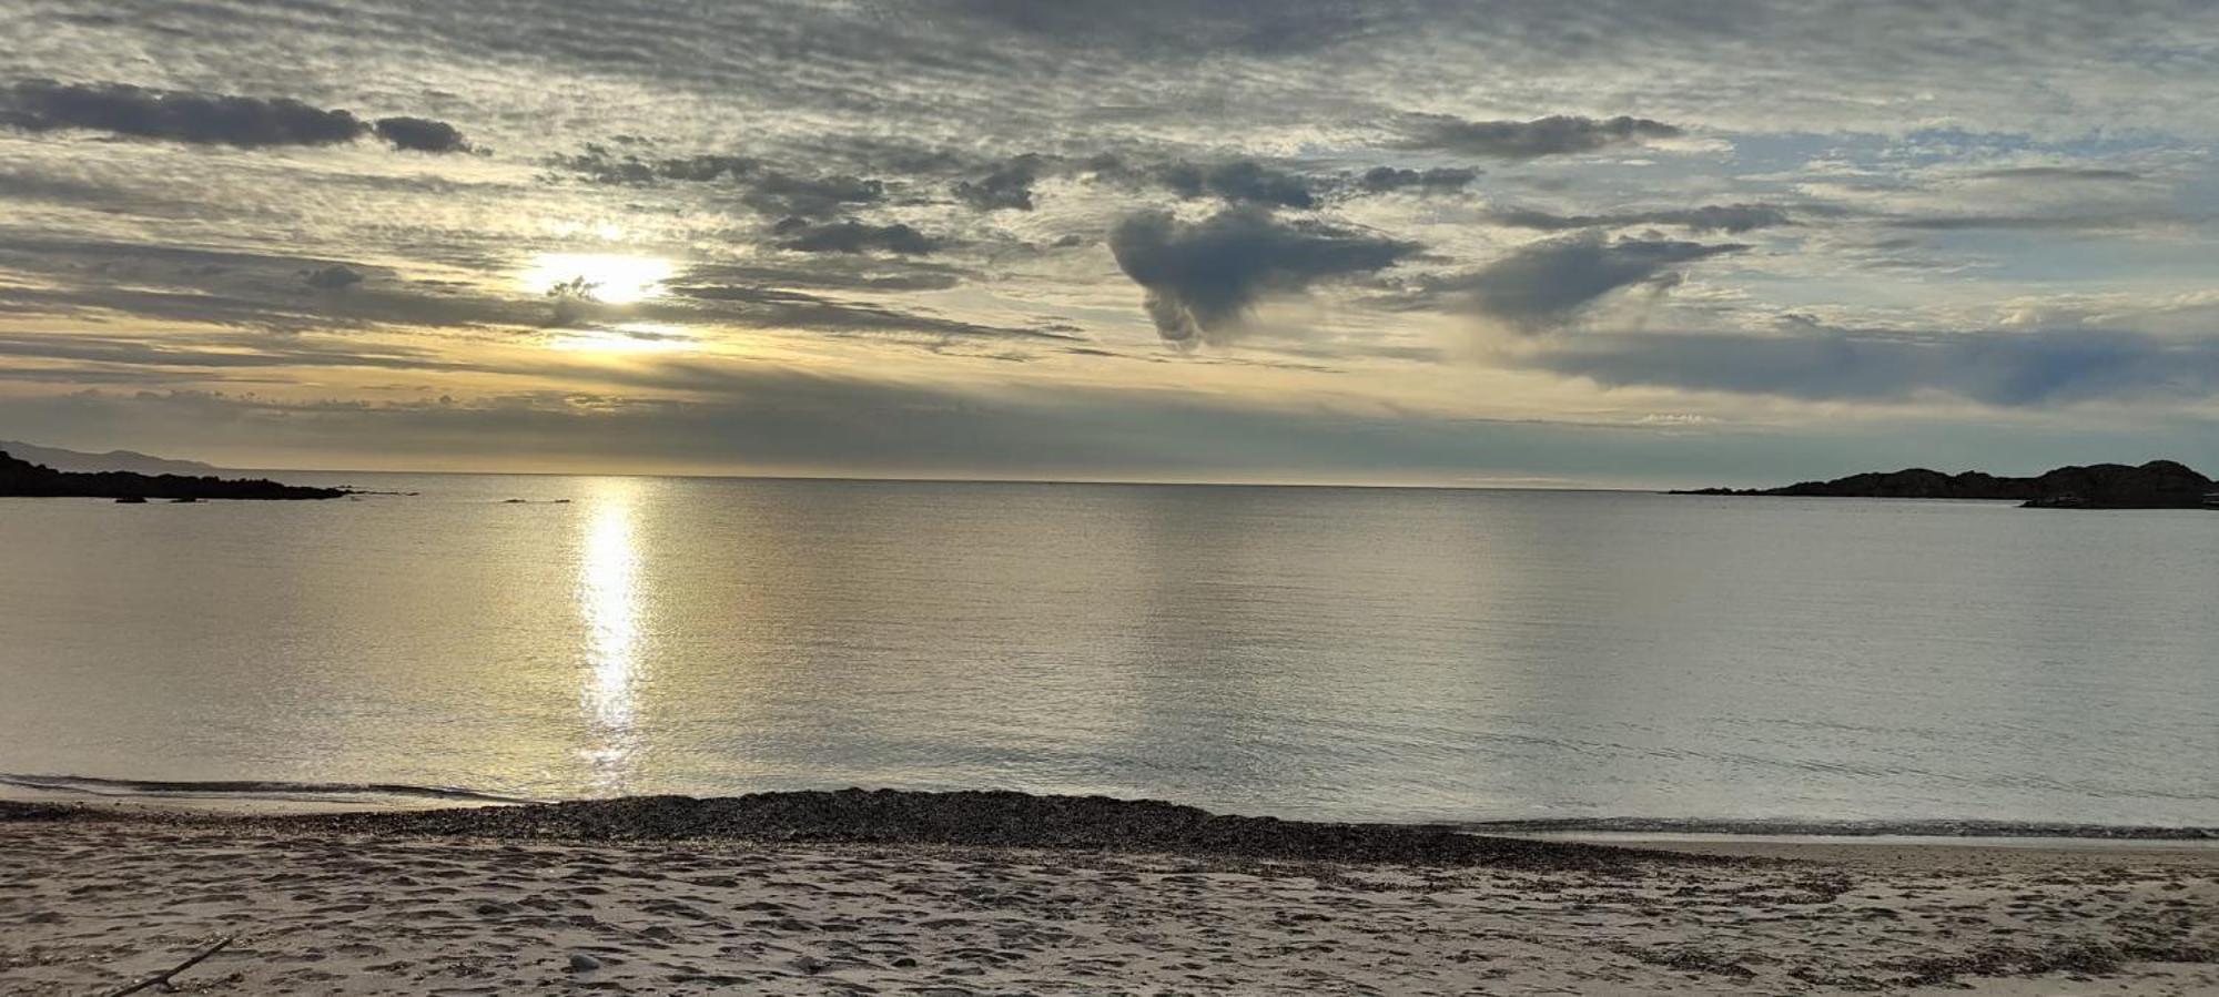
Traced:
POLYGON ((131 84, 24 80, 0 89, 0 124, 20 131, 107 131, 113 135, 222 144, 237 148, 337 146, 377 135, 395 148, 466 148, 453 124, 428 117, 364 122, 291 97, 155 91, 131 84))

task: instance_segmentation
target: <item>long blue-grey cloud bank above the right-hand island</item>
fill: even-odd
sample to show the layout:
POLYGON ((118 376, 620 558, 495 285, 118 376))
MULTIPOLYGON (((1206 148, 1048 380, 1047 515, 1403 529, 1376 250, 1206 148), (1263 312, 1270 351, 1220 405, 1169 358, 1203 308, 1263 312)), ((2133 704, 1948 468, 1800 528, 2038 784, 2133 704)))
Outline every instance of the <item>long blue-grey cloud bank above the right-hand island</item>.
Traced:
POLYGON ((2115 330, 1873 332, 1795 323, 1780 335, 1580 337, 1531 363, 1604 386, 1811 401, 1944 394, 1986 405, 2219 394, 2219 339, 2115 330))

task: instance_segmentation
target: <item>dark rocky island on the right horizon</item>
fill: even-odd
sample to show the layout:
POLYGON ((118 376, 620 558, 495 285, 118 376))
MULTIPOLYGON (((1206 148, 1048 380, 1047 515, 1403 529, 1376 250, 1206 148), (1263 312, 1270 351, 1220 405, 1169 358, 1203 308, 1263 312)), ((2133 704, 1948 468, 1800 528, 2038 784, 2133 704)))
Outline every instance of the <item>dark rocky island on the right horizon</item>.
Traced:
POLYGON ((2090 463, 2057 467, 2033 479, 2008 479, 1984 472, 1942 474, 1926 467, 1899 472, 1866 472, 1833 481, 1804 481, 1786 487, 1700 487, 1673 494, 1780 494, 1831 498, 1984 498, 2015 501, 2048 510, 2210 510, 2219 507, 2212 479, 2179 461, 2150 461, 2139 467, 2124 463, 2090 463))

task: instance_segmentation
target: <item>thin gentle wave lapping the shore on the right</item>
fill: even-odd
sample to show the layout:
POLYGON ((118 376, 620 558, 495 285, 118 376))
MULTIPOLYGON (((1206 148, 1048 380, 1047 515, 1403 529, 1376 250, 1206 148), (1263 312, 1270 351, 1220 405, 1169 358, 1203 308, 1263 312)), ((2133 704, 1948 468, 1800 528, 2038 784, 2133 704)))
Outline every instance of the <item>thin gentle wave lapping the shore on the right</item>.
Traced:
POLYGON ((2121 826, 2019 820, 1702 820, 1702 818, 1560 818, 1480 820, 1456 824, 1489 835, 1762 835, 1762 837, 2081 837, 2117 842, 2219 842, 2219 826, 2121 826))

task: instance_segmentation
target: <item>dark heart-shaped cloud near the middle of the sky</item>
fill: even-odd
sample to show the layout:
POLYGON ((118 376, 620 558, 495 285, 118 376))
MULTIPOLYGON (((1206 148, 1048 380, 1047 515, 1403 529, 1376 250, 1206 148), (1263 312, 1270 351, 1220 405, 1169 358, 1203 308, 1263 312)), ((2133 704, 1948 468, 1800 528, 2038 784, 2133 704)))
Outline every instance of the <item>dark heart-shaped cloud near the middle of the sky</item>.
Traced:
POLYGON ((1181 224, 1169 213, 1129 215, 1110 233, 1116 264, 1147 290, 1147 315, 1174 343, 1223 337, 1258 297, 1378 273, 1418 244, 1336 228, 1278 222, 1263 208, 1227 208, 1181 224))

